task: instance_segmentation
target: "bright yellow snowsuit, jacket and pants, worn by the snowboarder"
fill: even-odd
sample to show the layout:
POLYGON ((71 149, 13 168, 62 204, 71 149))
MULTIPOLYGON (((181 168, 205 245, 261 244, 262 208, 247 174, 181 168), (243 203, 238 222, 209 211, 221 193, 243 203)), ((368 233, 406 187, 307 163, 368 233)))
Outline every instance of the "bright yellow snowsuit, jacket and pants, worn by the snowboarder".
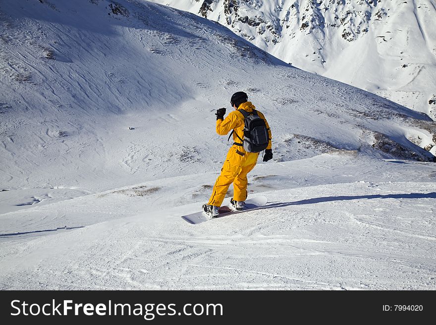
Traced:
MULTIPOLYGON (((239 138, 244 139, 244 116, 238 110, 243 109, 247 112, 252 112, 256 107, 246 101, 239 105, 237 110, 232 111, 224 120, 217 120, 217 133, 220 136, 227 135, 231 130, 234 130, 233 140, 236 143, 241 143, 239 138)), ((268 128, 270 141, 267 149, 271 149, 271 130, 265 119, 264 114, 256 110, 259 117, 265 121, 268 128)), ((247 198, 247 174, 256 166, 259 152, 246 152, 243 146, 233 144, 228 150, 227 157, 221 168, 221 175, 218 176, 215 182, 212 196, 209 199, 210 205, 221 206, 225 194, 230 184, 233 183, 233 199, 235 201, 245 201, 247 198)))

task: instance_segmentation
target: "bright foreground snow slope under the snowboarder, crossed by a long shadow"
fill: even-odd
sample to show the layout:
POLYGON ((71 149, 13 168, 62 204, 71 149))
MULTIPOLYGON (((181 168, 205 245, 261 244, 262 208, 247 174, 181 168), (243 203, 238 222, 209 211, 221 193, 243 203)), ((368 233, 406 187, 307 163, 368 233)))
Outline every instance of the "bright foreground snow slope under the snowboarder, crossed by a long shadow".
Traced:
POLYGON ((22 233, 0 237, 0 287, 436 288, 434 164, 324 154, 253 172, 265 209, 199 225, 180 215, 199 208, 209 195, 200 184, 216 174, 141 184, 159 194, 123 188, 3 215, 22 233))

